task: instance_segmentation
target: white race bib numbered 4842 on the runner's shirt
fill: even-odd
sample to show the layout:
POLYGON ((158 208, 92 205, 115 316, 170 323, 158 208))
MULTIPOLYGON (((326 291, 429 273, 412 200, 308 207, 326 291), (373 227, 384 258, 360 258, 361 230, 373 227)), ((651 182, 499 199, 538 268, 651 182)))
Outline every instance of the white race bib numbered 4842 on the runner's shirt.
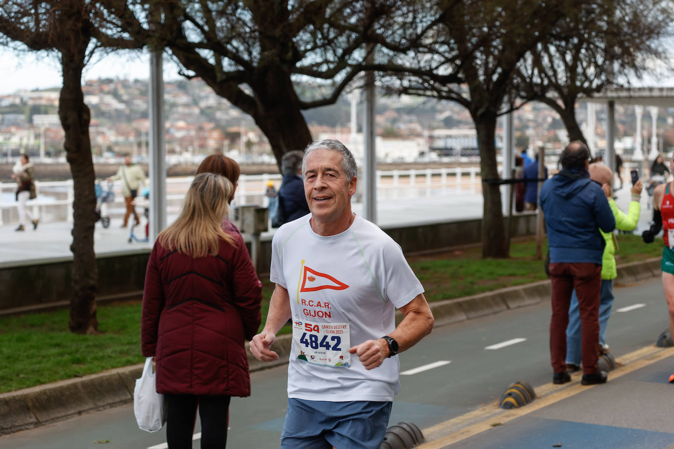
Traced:
POLYGON ((348 368, 351 347, 348 322, 293 321, 295 357, 309 364, 348 368))

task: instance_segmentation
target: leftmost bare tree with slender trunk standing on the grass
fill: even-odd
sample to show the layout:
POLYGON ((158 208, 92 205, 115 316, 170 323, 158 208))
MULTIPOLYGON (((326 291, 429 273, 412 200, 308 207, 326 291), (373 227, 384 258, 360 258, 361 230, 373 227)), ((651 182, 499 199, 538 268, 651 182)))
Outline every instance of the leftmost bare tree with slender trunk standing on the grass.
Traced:
POLYGON ((69 329, 92 334, 96 318, 96 195, 89 139, 89 108, 82 94, 82 70, 97 45, 92 40, 94 5, 86 0, 5 0, 0 8, 0 44, 20 42, 30 50, 55 53, 63 74, 59 118, 65 131, 65 152, 73 177, 72 296, 69 329))

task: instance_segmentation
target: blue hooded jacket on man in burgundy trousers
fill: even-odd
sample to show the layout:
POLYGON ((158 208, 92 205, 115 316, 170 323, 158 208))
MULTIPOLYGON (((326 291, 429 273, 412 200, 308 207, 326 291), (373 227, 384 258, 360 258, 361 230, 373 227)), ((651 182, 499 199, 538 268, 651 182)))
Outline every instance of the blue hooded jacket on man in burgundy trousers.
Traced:
POLYGON ((615 229, 615 217, 598 183, 587 170, 561 170, 541 187, 541 210, 550 263, 596 263, 606 244, 599 233, 615 229))

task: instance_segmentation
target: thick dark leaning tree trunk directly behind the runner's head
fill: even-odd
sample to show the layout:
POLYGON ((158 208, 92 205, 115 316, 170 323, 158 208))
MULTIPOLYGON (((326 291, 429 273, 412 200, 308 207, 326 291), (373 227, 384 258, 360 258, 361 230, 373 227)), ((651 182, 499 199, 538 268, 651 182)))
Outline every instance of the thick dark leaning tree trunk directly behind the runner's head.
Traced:
POLYGON ((269 140, 280 170, 285 153, 303 150, 313 139, 290 81, 290 73, 281 67, 269 67, 257 79, 256 85, 255 102, 258 107, 253 119, 269 140))

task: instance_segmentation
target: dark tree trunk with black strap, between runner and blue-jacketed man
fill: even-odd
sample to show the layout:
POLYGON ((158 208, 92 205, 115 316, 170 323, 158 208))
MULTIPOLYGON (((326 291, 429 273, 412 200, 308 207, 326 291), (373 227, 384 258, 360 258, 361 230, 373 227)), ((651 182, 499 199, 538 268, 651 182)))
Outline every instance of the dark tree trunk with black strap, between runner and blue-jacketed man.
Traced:
MULTIPOLYGON (((480 170, 482 179, 499 178, 496 164, 496 113, 482 112, 474 114, 473 120, 477 129, 477 144, 480 149, 480 170)), ((503 226, 503 209, 501 208, 501 188, 499 184, 483 182, 484 199, 482 218, 482 256, 483 258, 507 258, 510 253, 508 240, 505 238, 503 226)))

